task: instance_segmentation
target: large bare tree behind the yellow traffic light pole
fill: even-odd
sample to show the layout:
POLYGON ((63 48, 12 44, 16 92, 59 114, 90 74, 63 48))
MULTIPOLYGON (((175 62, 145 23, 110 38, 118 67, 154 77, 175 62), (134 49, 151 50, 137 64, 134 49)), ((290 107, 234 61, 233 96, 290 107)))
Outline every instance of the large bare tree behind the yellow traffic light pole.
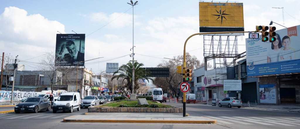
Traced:
MULTIPOLYGON (((170 75, 169 77, 156 77, 154 79, 154 84, 162 88, 164 92, 171 90, 173 93, 177 94, 177 88, 179 83, 182 82, 182 75, 176 73, 176 66, 182 66, 183 55, 174 56, 173 60, 163 61, 158 64, 158 67, 169 67, 170 75)), ((196 69, 201 67, 200 61, 196 56, 192 56, 189 53, 186 54, 186 67, 189 69, 196 69)))

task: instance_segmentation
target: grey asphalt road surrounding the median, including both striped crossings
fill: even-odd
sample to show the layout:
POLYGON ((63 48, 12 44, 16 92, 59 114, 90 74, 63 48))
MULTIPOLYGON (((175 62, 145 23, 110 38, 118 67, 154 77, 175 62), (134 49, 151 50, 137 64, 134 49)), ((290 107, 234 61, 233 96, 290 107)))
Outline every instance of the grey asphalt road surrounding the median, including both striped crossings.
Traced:
MULTIPOLYGON (((181 107, 182 104, 165 103, 181 107)), ((0 114, 0 129, 298 129, 300 113, 252 110, 243 108, 213 107, 203 104, 187 104, 187 113, 191 116, 205 116, 217 119, 217 124, 137 124, 137 123, 64 123, 62 120, 87 109, 73 113, 41 111, 39 113, 0 114)), ((99 116, 101 117, 101 116, 99 116)))

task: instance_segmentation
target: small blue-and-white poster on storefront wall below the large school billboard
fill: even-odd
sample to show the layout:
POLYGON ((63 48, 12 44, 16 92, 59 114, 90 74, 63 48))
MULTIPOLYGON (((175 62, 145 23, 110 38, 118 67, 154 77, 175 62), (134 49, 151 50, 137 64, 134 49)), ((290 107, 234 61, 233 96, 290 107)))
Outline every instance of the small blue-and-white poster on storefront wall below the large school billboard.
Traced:
POLYGON ((274 84, 259 85, 260 103, 276 104, 276 88, 274 84))

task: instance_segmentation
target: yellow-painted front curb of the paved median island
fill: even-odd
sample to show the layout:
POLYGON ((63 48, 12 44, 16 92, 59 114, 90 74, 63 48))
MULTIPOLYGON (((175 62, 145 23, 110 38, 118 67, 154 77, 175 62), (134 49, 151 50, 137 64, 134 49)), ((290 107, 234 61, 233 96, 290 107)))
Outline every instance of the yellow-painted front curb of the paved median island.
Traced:
POLYGON ((177 124, 215 124, 211 121, 178 121, 178 120, 76 120, 64 119, 63 122, 88 122, 88 123, 177 123, 177 124))

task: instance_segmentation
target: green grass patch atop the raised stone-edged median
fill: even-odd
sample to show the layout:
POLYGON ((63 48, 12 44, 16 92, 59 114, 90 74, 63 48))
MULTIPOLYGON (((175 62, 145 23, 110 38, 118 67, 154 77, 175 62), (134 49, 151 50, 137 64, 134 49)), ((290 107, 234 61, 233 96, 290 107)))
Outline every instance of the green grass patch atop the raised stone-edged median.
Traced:
MULTIPOLYGON (((137 106, 137 101, 127 101, 127 100, 119 101, 119 102, 113 102, 113 103, 109 103, 109 104, 103 104, 103 105, 96 106, 96 107, 119 107, 121 104, 125 104, 128 107, 138 107, 137 106)), ((152 102, 152 101, 149 101, 149 100, 148 100, 148 104, 149 104, 149 106, 147 106, 147 107, 150 107, 151 104, 156 104, 156 105, 158 105, 158 107, 167 107, 167 108, 172 108, 173 107, 173 106, 166 105, 166 104, 155 103, 155 102, 152 102)))

